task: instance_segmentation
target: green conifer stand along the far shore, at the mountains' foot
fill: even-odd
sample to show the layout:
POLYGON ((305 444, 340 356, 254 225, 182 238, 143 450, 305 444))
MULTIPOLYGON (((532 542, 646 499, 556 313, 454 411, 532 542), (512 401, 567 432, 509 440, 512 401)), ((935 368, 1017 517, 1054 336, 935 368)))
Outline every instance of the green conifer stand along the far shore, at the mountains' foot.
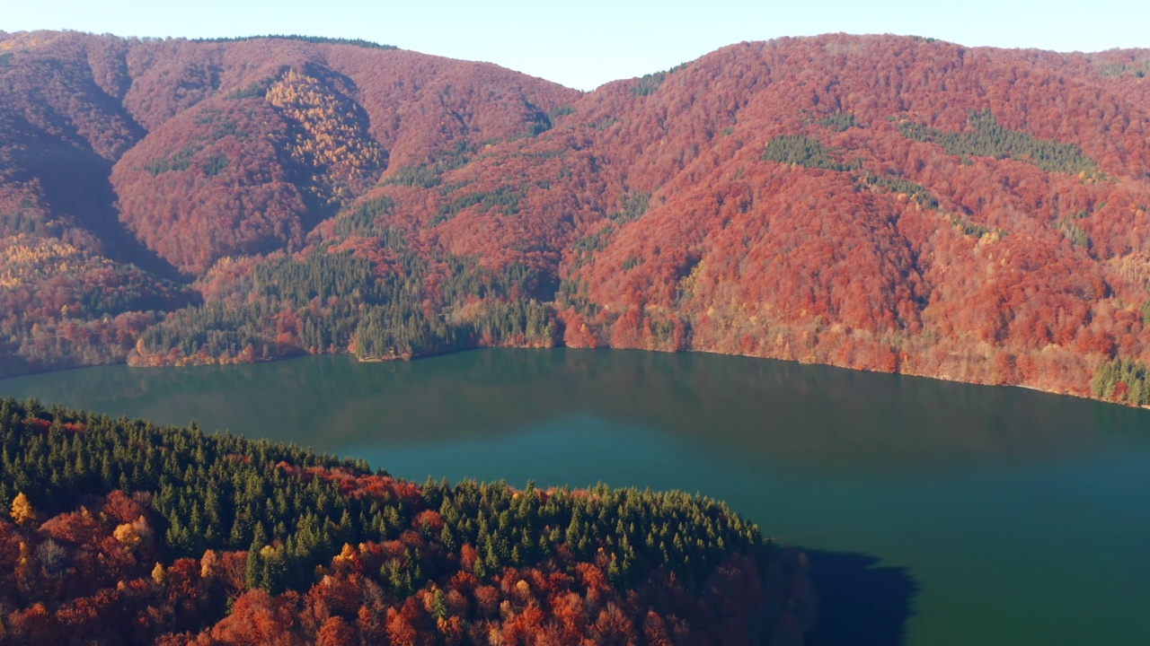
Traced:
POLYGON ((554 345, 558 328, 543 303, 558 286, 551 278, 522 263, 489 269, 450 253, 425 259, 400 230, 384 223, 392 208, 388 199, 362 202, 337 221, 336 232, 376 238, 394 253, 394 270, 379 276, 366 259, 331 253, 331 243, 302 256, 269 260, 233 285, 248 299, 213 300, 169 316, 143 334, 145 352, 260 360, 351 347, 361 359, 379 360, 473 347, 481 340, 554 345), (468 315, 457 314, 473 301, 483 302, 468 315), (279 338, 285 314, 299 320, 293 347, 282 347, 279 338))

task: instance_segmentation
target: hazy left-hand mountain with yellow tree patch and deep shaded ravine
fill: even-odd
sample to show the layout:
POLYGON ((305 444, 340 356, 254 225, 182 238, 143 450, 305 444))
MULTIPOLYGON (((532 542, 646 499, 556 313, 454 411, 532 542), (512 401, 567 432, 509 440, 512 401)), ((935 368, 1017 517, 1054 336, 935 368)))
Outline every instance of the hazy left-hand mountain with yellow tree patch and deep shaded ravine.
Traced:
POLYGON ((216 260, 577 94, 355 44, 0 34, 0 376, 123 361, 216 260))

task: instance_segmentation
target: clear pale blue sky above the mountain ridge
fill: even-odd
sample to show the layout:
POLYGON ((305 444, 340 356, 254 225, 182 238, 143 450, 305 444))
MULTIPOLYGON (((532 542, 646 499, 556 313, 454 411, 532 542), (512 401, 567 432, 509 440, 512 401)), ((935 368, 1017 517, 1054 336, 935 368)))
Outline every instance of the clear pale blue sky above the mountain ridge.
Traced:
POLYGON ((1150 47, 1150 0, 0 0, 0 30, 34 29, 363 38, 592 90, 742 40, 838 31, 1064 52, 1150 47))

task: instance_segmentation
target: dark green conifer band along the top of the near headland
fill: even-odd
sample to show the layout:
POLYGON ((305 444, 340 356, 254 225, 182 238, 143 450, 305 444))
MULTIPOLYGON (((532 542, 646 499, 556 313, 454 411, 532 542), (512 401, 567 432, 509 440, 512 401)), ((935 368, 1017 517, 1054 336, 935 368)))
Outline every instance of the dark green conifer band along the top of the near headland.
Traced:
POLYGON ((699 495, 605 485, 515 491, 473 480, 413 486, 362 461, 36 401, 0 400, 0 500, 28 492, 33 508, 53 515, 114 490, 146 493, 167 561, 247 551, 250 585, 273 593, 307 590, 315 567, 345 544, 383 544, 411 531, 423 546, 405 539, 404 557, 378 572, 382 587, 400 598, 455 571, 465 544, 478 553, 481 578, 562 548, 577 561, 601 554, 623 587, 659 568, 702 584, 731 554, 767 549, 756 525, 699 495), (343 485, 322 477, 335 470, 343 485), (347 477, 394 485, 348 495, 347 477), (428 512, 442 526, 425 520, 428 512))

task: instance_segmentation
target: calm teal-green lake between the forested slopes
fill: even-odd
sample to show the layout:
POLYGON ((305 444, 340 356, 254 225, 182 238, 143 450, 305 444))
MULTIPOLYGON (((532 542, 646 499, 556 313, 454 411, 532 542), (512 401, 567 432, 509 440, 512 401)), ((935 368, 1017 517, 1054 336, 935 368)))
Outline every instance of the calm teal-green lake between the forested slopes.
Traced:
POLYGON ((428 476, 681 489, 811 555, 813 644, 1150 644, 1150 412, 632 351, 87 368, 0 394, 428 476))

